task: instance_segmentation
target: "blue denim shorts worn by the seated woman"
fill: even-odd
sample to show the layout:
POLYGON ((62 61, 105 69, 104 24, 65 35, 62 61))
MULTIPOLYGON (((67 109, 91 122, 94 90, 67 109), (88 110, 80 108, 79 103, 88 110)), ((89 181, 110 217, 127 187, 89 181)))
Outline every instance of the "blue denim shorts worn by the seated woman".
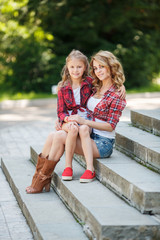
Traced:
POLYGON ((107 138, 95 133, 91 133, 91 138, 95 141, 101 158, 110 157, 113 152, 114 138, 107 138))

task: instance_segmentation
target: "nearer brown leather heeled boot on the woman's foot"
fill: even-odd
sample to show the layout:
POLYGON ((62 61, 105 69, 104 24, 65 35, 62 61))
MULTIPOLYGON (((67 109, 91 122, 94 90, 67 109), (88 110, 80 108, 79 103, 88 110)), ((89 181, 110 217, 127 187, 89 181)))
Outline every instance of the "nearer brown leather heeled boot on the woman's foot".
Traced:
POLYGON ((33 186, 27 189, 27 193, 41 193, 43 191, 43 188, 45 188, 46 192, 49 192, 52 172, 57 163, 58 161, 56 162, 45 158, 43 168, 39 172, 38 177, 35 180, 33 186))

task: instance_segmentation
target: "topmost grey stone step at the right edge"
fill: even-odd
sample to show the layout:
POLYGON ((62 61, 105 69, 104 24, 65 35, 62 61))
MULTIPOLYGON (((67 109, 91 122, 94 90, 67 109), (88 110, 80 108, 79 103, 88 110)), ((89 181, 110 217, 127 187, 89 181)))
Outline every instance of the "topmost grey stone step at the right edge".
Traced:
POLYGON ((131 122, 136 127, 160 136, 160 109, 131 110, 131 122))

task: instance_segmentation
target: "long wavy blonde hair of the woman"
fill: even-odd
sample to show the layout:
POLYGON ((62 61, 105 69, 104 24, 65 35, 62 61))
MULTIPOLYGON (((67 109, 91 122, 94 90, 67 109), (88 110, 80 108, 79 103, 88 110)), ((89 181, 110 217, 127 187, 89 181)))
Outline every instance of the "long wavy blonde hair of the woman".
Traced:
POLYGON ((94 60, 100 63, 100 65, 110 68, 112 82, 119 89, 125 82, 125 76, 123 73, 122 65, 118 59, 111 52, 103 50, 100 50, 98 53, 92 56, 90 66, 91 75, 94 78, 93 86, 97 91, 99 91, 102 87, 102 81, 100 81, 95 75, 93 68, 94 60))

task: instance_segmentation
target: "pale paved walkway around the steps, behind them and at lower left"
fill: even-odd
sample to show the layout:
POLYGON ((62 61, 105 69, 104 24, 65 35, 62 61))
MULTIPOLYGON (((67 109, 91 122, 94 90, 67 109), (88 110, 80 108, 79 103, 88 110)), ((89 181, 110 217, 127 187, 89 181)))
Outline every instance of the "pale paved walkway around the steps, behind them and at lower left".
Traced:
MULTIPOLYGON (((121 121, 130 120, 130 109, 160 109, 160 93, 128 95, 128 105, 121 121)), ((16 155, 29 159, 29 147, 34 142, 34 134, 44 139, 48 130, 54 130, 56 100, 21 101, 0 105, 0 158, 16 155), (18 105, 17 105, 18 104, 18 105), (18 106, 18 108, 17 108, 18 106), (41 128, 46 128, 42 136, 41 128)), ((36 143, 43 145, 43 143, 36 143)), ((9 184, 0 168, 0 240, 31 240, 32 233, 15 200, 9 184)))

